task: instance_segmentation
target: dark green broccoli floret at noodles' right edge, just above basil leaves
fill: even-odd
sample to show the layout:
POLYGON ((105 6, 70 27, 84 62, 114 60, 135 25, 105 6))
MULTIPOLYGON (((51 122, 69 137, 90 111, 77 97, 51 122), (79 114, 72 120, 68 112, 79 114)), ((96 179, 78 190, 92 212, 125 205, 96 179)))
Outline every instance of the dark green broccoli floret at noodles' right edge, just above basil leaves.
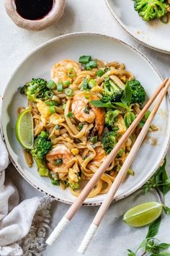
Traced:
POLYGON ((138 80, 128 81, 132 89, 131 103, 138 103, 142 105, 146 100, 146 91, 138 80))

